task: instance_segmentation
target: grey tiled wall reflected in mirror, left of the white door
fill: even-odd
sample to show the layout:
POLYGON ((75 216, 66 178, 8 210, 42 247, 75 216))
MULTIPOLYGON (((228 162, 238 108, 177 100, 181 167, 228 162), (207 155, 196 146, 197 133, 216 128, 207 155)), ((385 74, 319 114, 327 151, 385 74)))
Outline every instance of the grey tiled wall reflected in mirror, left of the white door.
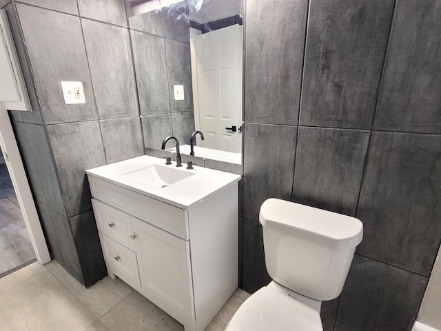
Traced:
POLYGON ((177 5, 130 18, 144 145, 150 148, 161 148, 170 135, 186 143, 194 131, 189 25, 181 17, 187 11, 177 5), (184 100, 174 99, 174 85, 184 86, 184 100))

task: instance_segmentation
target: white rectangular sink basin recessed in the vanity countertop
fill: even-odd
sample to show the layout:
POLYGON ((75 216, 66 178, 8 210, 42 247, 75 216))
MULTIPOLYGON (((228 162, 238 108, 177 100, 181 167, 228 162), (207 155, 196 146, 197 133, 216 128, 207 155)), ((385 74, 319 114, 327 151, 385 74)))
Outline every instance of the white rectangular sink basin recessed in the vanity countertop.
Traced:
POLYGON ((182 181, 194 173, 176 169, 170 165, 151 164, 141 168, 123 172, 121 177, 139 183, 154 186, 155 188, 166 188, 178 181, 182 181))

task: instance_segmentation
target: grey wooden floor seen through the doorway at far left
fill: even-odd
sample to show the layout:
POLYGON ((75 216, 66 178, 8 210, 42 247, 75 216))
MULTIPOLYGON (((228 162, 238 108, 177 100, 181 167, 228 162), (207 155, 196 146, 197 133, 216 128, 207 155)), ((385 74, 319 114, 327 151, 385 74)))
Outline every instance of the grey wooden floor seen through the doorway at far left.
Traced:
POLYGON ((0 164, 0 278, 35 260, 6 164, 0 164))

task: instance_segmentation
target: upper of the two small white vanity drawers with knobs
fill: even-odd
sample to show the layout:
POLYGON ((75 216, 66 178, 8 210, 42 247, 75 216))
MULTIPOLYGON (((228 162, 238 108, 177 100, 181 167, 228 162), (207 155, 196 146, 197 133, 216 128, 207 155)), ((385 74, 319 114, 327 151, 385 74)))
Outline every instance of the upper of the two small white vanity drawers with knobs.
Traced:
POLYGON ((92 206, 98 231, 135 250, 134 240, 130 237, 133 234, 130 215, 96 199, 92 199, 92 206))

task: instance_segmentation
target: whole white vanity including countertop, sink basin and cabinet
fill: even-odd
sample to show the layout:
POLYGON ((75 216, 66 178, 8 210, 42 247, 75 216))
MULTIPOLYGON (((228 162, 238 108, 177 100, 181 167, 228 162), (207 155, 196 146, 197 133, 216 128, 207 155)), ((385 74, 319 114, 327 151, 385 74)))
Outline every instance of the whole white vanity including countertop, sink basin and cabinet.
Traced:
POLYGON ((87 170, 109 276, 205 330, 237 288, 240 176, 136 157, 87 170))

